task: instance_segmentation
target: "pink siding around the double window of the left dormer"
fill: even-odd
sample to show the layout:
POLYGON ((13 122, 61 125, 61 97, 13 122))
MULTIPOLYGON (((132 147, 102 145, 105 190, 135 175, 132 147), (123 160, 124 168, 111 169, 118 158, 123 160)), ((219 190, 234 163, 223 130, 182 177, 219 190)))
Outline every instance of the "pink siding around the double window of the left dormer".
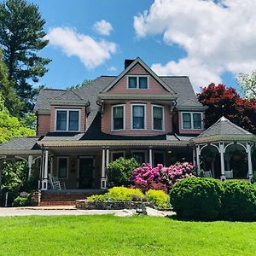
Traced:
POLYGON ((51 106, 50 107, 50 131, 55 131, 55 109, 80 109, 80 132, 85 131, 85 107, 75 106, 51 106))

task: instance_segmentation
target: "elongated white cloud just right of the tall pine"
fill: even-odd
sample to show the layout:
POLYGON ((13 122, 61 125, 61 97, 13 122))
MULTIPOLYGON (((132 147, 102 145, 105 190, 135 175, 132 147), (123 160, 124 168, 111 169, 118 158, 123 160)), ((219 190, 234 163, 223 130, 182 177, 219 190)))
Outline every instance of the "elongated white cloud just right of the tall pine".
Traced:
POLYGON ((60 47, 67 56, 78 56, 87 68, 102 65, 117 50, 117 45, 113 42, 96 41, 69 27, 52 28, 46 38, 49 39, 49 44, 60 47))

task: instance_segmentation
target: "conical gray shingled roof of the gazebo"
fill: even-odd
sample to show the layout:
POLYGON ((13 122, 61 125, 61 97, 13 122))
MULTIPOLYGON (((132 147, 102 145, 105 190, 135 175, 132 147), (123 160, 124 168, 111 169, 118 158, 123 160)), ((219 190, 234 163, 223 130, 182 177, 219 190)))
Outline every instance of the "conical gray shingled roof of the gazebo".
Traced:
POLYGON ((192 143, 211 143, 218 141, 250 141, 256 142, 256 136, 232 123, 224 116, 203 131, 198 137, 192 139, 192 143))

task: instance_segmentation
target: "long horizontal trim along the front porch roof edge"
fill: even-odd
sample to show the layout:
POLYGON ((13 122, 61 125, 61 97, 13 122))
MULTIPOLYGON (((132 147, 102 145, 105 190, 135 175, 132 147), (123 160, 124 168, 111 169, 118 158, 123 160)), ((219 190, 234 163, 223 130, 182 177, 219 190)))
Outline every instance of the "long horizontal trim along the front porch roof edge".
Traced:
POLYGON ((144 140, 91 140, 91 141, 38 141, 38 145, 53 148, 62 147, 107 147, 107 146, 177 146, 184 147, 189 145, 188 141, 144 141, 144 140))

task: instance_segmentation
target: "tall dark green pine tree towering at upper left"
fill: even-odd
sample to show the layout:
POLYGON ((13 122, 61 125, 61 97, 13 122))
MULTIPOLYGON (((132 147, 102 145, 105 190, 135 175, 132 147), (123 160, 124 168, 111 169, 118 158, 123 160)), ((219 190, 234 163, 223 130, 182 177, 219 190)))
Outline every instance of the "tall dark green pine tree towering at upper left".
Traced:
POLYGON ((44 39, 45 20, 38 6, 26 0, 7 0, 0 3, 0 45, 3 61, 8 68, 9 82, 15 84, 15 91, 24 102, 22 113, 32 110, 37 90, 32 82, 38 82, 48 70, 49 59, 40 57, 48 40, 44 39))

